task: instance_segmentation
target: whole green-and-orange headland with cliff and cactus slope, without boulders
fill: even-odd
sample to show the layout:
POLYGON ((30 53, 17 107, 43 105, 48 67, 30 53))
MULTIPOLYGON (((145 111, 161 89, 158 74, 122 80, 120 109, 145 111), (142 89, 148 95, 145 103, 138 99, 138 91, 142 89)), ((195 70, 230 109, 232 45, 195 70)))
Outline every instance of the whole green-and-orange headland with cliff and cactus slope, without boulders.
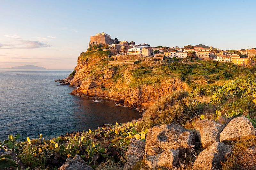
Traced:
MULTIPOLYGON (((57 169, 76 154, 94 169, 119 170, 127 163, 131 139, 147 140, 148 131, 156 125, 175 123, 194 131, 199 120, 209 119, 226 126, 233 118, 243 116, 256 128, 255 67, 155 58, 113 64, 115 61, 108 54, 109 51, 88 51, 79 56, 71 74, 74 79, 70 85, 78 87, 73 94, 111 97, 122 100, 119 103, 124 105, 147 108, 141 120, 81 129, 50 140, 40 134, 37 139, 27 137, 20 142, 17 139, 22 134, 10 134, 0 141, 0 148, 17 153, 25 167, 36 170, 57 169)), ((241 139, 228 145, 233 151, 221 162, 221 169, 256 168, 255 140, 241 139)), ((191 170, 203 150, 202 146, 186 150, 179 155, 177 166, 169 169, 191 170)), ((0 169, 8 166, 19 167, 10 157, 0 157, 0 169)), ((145 157, 133 169, 148 170, 145 157)))

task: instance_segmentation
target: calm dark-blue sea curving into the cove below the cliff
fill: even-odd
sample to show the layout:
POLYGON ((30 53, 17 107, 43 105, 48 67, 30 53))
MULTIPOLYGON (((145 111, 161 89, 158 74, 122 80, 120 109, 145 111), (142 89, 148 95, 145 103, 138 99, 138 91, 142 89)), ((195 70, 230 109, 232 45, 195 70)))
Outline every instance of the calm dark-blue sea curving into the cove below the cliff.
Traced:
POLYGON ((95 102, 69 94, 73 87, 58 86, 54 80, 66 78, 71 71, 0 69, 0 140, 17 133, 22 139, 40 133, 45 138, 57 137, 141 117, 112 100, 95 102))

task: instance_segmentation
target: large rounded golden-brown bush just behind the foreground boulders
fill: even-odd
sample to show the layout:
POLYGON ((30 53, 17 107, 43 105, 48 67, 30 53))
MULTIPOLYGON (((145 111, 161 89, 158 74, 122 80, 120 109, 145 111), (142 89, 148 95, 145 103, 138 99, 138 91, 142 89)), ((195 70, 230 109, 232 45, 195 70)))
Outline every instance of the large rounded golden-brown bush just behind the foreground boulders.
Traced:
POLYGON ((187 91, 174 91, 148 108, 143 115, 145 127, 168 123, 184 125, 196 115, 197 108, 197 102, 187 91))

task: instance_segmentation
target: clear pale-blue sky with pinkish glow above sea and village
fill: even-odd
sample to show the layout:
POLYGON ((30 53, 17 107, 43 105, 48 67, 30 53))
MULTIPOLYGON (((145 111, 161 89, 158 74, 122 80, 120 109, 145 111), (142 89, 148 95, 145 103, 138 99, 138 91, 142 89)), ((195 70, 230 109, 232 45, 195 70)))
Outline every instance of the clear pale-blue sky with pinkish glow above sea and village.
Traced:
POLYGON ((156 46, 256 47, 254 0, 0 0, 0 68, 74 69, 90 36, 156 46))

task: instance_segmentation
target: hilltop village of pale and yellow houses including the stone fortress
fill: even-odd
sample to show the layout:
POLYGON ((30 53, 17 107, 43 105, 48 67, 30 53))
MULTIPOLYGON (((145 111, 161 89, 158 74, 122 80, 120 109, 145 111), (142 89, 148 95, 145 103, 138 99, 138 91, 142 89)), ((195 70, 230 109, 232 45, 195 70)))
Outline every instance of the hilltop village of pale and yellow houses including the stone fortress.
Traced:
POLYGON ((106 46, 103 51, 110 50, 110 57, 131 58, 131 56, 145 56, 156 57, 159 59, 173 58, 173 59, 199 59, 199 60, 213 60, 217 62, 231 62, 238 65, 252 65, 253 58, 256 56, 256 49, 241 49, 241 50, 221 50, 213 48, 212 46, 205 46, 202 44, 191 46, 187 45, 183 48, 179 47, 151 47, 143 43, 136 45, 134 41, 118 41, 117 38, 111 39, 111 36, 106 33, 98 33, 91 36, 89 49, 96 49, 106 46), (129 57, 130 56, 130 57, 129 57))

